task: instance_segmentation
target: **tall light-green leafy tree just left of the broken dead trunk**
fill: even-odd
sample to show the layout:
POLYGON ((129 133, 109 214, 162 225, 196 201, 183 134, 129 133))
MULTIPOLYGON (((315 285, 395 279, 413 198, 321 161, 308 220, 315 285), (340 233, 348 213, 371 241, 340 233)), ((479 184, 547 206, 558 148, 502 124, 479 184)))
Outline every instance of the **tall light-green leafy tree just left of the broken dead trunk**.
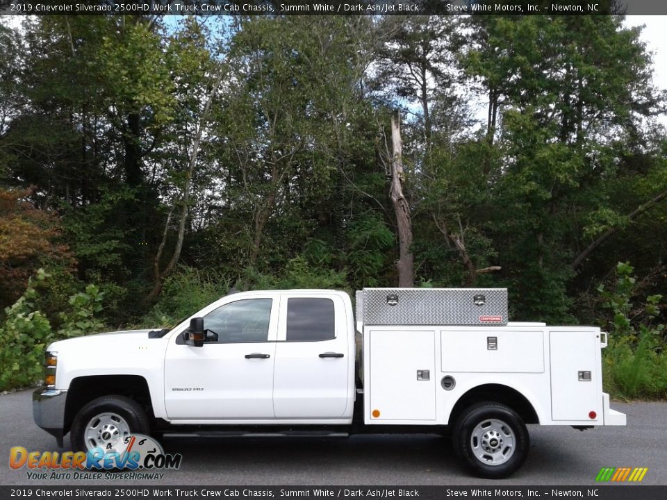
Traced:
POLYGON ((216 133, 227 169, 224 210, 245 226, 249 265, 284 263, 323 221, 345 224, 328 208, 340 207, 340 178, 363 142, 354 134, 356 116, 368 110, 359 99, 362 22, 257 17, 233 38, 236 93, 216 133))

